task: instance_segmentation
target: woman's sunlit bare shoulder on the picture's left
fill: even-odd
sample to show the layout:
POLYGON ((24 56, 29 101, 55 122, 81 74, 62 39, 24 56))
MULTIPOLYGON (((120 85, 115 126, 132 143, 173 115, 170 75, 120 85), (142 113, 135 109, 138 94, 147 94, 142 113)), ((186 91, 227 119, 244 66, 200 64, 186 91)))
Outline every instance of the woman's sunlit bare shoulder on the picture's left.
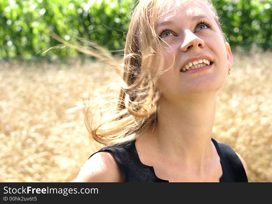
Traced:
POLYGON ((79 171, 74 182, 122 182, 123 174, 110 152, 92 155, 79 171))

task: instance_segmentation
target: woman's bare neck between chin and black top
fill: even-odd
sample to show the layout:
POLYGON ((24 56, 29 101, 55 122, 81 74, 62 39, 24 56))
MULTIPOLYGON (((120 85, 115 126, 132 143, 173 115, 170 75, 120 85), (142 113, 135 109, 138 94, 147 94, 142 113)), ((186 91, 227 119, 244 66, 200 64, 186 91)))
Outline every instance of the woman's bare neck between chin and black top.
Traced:
POLYGON ((158 120, 150 139, 165 158, 185 166, 202 167, 212 154, 211 135, 215 119, 216 95, 169 104, 159 101, 158 120))

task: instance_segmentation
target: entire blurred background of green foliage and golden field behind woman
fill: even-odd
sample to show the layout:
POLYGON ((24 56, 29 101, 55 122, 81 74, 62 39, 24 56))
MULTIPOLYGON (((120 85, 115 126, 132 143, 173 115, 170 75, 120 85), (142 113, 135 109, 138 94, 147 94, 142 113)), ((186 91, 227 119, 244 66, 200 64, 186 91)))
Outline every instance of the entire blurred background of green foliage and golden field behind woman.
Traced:
MULTIPOLYGON (((117 94, 117 73, 50 36, 96 42, 119 59, 135 0, 0 0, 0 182, 69 182, 103 145, 89 105, 117 94)), ((250 182, 272 182, 272 0, 214 0, 233 52, 213 138, 245 160, 250 182)))

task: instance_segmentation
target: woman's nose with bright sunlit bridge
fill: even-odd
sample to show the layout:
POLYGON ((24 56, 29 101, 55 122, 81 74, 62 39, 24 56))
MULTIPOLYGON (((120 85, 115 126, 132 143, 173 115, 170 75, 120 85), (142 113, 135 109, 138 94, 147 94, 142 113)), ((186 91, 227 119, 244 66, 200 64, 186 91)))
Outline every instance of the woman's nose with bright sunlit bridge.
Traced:
POLYGON ((192 31, 190 30, 185 30, 184 36, 185 37, 181 45, 182 52, 186 52, 192 48, 196 48, 196 47, 202 48, 205 46, 205 42, 201 38, 196 36, 194 33, 192 33, 192 31))

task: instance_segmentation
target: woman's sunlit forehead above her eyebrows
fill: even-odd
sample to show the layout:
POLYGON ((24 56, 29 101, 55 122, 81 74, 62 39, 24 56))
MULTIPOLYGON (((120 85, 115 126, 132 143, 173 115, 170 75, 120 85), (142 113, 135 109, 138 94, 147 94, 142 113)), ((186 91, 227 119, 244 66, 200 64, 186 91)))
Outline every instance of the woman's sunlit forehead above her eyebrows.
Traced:
POLYGON ((181 20, 185 17, 194 18, 197 16, 206 16, 214 19, 211 9, 202 0, 164 0, 158 4, 160 21, 176 18, 181 20))

